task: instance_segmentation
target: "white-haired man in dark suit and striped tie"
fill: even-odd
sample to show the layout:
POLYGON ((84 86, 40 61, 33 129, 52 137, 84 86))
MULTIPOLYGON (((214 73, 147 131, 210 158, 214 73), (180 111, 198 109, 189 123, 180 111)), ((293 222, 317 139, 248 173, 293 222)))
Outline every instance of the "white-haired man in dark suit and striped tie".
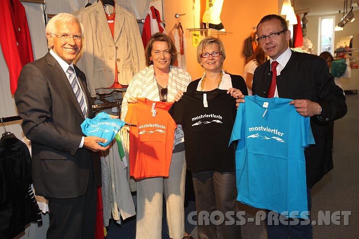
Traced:
POLYGON ((92 151, 106 150, 98 142, 107 140, 85 137, 80 127, 92 111, 86 77, 72 63, 83 39, 77 18, 54 16, 46 35, 51 50, 23 67, 15 103, 31 140, 36 195, 49 200, 47 238, 90 239, 96 222, 95 181, 101 183, 101 165, 92 151))

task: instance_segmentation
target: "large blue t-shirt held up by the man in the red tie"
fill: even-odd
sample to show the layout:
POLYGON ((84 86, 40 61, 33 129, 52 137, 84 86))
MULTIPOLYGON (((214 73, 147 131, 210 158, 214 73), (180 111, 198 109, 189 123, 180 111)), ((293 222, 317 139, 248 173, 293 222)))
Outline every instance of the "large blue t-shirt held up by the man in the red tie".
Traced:
POLYGON ((230 143, 239 139, 235 156, 237 200, 307 219, 304 149, 315 144, 310 118, 300 116, 289 105, 290 99, 244 99, 230 138, 230 143))

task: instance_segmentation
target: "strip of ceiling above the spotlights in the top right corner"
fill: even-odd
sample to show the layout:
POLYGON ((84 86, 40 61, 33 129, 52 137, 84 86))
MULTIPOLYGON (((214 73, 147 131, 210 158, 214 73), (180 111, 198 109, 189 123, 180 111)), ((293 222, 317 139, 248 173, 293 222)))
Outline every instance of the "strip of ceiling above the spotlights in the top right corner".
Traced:
MULTIPOLYGON (((353 4, 357 3, 353 8, 354 11, 359 10, 358 1, 352 0, 353 4)), ((310 8, 308 15, 322 15, 338 13, 339 10, 343 13, 345 0, 292 0, 291 2, 295 10, 310 8)), ((350 4, 351 0, 348 0, 348 11, 350 4)))

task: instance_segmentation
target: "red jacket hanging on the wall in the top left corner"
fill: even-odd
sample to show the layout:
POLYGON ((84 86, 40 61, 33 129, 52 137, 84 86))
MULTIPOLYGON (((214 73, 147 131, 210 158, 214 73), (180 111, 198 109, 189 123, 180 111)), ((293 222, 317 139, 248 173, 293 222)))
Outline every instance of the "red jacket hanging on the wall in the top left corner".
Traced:
POLYGON ((19 0, 2 2, 0 22, 0 44, 9 71, 11 94, 14 94, 22 66, 33 61, 25 8, 19 0))

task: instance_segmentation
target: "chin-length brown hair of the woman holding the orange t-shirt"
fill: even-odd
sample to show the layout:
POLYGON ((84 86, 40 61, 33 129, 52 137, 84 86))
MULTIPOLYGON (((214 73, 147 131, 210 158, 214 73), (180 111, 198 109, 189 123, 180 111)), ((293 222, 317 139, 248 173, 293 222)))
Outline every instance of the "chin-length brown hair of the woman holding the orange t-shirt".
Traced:
POLYGON ((150 57, 151 57, 151 51, 152 51, 152 44, 155 41, 167 42, 167 44, 169 46, 170 55, 171 55, 171 63, 170 64, 171 65, 175 64, 176 59, 177 59, 177 54, 178 54, 175 44, 173 43, 173 41, 171 40, 171 38, 168 35, 157 32, 151 36, 150 40, 147 43, 146 49, 145 49, 146 66, 153 65, 153 62, 150 60, 150 57))

